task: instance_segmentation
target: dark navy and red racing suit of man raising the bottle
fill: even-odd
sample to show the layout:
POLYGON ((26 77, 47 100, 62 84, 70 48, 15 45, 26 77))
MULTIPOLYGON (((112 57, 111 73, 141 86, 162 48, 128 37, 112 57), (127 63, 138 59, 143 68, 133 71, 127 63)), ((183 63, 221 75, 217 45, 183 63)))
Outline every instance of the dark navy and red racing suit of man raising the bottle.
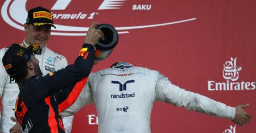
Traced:
POLYGON ((75 102, 93 62, 94 47, 84 44, 74 64, 46 76, 22 81, 15 117, 23 132, 65 132, 60 113, 75 102))

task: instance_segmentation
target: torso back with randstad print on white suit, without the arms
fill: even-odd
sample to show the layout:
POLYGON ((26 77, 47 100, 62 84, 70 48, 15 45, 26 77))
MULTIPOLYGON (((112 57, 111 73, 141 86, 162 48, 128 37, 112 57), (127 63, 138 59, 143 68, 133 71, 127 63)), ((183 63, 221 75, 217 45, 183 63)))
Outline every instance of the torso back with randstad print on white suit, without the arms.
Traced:
POLYGON ((90 74, 99 132, 150 132, 157 78, 158 72, 135 66, 90 74))

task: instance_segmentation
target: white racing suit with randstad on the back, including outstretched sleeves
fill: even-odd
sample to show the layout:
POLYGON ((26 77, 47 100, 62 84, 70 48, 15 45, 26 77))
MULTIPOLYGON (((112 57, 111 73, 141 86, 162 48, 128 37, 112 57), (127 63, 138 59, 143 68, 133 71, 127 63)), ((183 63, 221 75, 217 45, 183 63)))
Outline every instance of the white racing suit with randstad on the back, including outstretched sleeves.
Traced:
POLYGON ((167 77, 155 70, 135 66, 109 68, 90 74, 77 101, 62 115, 72 115, 82 106, 94 102, 98 132, 150 132, 155 101, 220 118, 233 119, 235 115, 234 107, 172 85, 167 77))

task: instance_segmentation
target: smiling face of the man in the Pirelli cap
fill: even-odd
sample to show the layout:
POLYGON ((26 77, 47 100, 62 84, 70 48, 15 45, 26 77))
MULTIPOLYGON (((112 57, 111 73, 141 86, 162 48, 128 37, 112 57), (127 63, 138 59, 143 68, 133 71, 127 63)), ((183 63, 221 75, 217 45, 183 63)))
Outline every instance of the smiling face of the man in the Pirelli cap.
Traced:
POLYGON ((51 26, 32 26, 32 24, 25 24, 26 43, 31 45, 38 43, 43 48, 49 41, 51 36, 51 26))

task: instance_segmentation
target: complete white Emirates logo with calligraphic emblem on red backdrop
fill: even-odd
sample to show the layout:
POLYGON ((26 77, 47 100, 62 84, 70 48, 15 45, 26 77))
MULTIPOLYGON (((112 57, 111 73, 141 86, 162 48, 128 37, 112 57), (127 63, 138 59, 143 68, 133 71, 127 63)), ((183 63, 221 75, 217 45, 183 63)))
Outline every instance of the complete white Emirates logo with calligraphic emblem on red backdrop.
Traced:
POLYGON ((241 66, 237 66, 237 57, 226 61, 222 70, 222 76, 226 82, 208 81, 208 90, 254 90, 255 82, 234 82, 239 78, 241 66))

